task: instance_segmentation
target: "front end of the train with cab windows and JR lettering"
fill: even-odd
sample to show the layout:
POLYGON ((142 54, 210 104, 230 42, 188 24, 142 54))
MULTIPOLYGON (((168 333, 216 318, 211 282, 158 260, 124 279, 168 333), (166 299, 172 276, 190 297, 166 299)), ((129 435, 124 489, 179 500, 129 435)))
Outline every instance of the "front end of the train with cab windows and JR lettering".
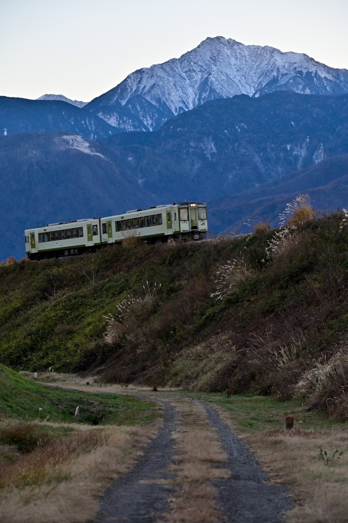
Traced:
POLYGON ((205 203, 178 203, 179 235, 191 235, 194 240, 203 240, 208 231, 207 206, 205 203))

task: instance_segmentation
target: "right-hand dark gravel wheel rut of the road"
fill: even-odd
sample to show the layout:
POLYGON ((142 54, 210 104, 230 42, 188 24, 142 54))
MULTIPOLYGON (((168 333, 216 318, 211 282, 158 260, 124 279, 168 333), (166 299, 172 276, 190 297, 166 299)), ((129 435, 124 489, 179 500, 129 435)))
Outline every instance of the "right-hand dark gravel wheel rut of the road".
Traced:
POLYGON ((221 523, 278 523, 293 507, 290 490, 270 482, 270 477, 243 442, 223 422, 217 410, 204 404, 209 423, 219 433, 223 450, 228 454, 224 467, 230 470, 228 479, 212 482, 219 491, 219 503, 224 513, 221 523))

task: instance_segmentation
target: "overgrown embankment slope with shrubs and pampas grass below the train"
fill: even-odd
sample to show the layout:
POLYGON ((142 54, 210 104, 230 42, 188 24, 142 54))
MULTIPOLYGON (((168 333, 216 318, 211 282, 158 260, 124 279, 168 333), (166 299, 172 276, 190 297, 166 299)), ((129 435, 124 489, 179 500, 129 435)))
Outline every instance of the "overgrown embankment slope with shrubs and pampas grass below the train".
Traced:
POLYGON ((0 362, 92 371, 106 382, 296 395, 345 417, 342 218, 4 264, 0 362))

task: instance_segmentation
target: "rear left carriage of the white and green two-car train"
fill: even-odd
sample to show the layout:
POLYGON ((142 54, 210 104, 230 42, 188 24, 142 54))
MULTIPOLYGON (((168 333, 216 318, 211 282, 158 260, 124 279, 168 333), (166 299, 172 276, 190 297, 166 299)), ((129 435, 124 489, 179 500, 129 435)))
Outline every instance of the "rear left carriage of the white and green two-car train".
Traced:
POLYGON ((47 224, 25 231, 29 259, 58 258, 94 251, 100 245, 99 219, 47 224))

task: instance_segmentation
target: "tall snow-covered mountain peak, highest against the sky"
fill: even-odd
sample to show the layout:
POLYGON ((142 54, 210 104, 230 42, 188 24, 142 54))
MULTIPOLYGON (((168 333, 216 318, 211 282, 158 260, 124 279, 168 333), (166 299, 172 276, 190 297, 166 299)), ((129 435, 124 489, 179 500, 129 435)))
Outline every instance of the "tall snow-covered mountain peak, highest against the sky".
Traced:
POLYGON ((306 54, 207 38, 178 59, 131 73, 86 108, 120 129, 152 131, 208 100, 240 94, 257 97, 275 90, 347 93, 348 71, 328 67, 306 54))

